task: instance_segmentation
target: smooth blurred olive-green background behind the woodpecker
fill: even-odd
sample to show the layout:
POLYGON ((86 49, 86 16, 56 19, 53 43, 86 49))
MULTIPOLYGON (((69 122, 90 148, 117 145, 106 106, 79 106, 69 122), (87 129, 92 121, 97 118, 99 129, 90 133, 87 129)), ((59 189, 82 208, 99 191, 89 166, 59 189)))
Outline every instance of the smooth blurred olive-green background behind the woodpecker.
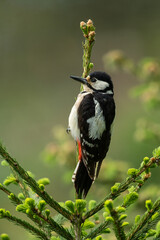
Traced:
MULTIPOLYGON (((71 196, 61 178, 64 169, 49 168, 41 152, 52 140, 52 128, 68 126, 68 115, 80 86, 70 74, 82 73, 83 40, 80 21, 96 26, 92 52, 94 70, 105 70, 103 55, 121 49, 135 61, 160 57, 160 1, 155 0, 1 0, 0 1, 0 139, 9 152, 36 178, 51 180, 48 190, 58 201, 71 196)), ((109 72, 110 73, 110 72, 109 72)), ((129 96, 134 77, 112 74, 117 106, 112 143, 113 159, 138 167, 154 144, 137 143, 136 119, 147 116, 138 100, 129 96)), ((70 138, 68 136, 68 138, 70 138)), ((0 182, 8 170, 0 166, 0 182)), ((154 171, 158 180, 158 170, 154 171)), ((9 208, 0 192, 0 207, 9 208)), ((0 221, 0 233, 13 240, 27 239, 18 227, 0 221)), ((25 234, 25 235, 24 235, 25 234)))

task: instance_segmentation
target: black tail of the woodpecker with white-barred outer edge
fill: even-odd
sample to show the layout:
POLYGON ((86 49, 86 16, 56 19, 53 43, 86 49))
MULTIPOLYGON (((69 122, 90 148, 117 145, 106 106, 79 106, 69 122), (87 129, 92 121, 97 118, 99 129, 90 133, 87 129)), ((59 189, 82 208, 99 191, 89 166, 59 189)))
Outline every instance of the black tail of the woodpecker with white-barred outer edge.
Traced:
POLYGON ((76 166, 76 169, 72 176, 72 181, 74 182, 78 197, 81 198, 83 196, 85 198, 94 179, 90 178, 82 160, 79 161, 76 166))

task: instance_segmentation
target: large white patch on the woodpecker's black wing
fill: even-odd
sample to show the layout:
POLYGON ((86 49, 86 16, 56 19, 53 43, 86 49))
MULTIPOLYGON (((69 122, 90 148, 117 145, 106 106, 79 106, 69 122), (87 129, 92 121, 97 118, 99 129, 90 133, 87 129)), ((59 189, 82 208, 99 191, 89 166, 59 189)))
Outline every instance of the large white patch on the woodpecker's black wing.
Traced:
POLYGON ((89 123, 89 137, 92 139, 101 139, 101 136, 106 129, 105 119, 99 102, 95 99, 93 100, 95 104, 95 116, 87 120, 89 123))

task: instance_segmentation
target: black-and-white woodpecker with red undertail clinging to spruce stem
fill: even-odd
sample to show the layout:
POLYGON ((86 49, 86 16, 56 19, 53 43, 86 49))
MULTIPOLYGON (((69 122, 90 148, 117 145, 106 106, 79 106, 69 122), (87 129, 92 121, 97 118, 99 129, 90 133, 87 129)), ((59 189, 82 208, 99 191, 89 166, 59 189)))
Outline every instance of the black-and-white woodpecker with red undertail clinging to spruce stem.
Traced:
POLYGON ((72 176, 79 197, 86 197, 98 177, 110 140, 115 117, 113 83, 105 72, 93 72, 86 78, 71 76, 83 84, 69 115, 71 135, 78 144, 78 164, 72 176))

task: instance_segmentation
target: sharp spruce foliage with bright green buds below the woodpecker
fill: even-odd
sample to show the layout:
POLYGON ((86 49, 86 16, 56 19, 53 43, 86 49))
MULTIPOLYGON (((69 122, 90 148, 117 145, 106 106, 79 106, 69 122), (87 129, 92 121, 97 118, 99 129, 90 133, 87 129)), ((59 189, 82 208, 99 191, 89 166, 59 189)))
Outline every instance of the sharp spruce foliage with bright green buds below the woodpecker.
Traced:
MULTIPOLYGON (((129 177, 122 183, 115 183, 111 187, 109 195, 99 204, 97 204, 95 200, 90 200, 87 203, 84 199, 76 199, 75 203, 68 200, 65 203, 58 204, 53 198, 47 195, 44 188, 40 188, 40 185, 43 185, 42 183, 36 183, 19 165, 17 168, 15 160, 11 158, 2 147, 0 148, 0 153, 3 158, 8 160, 11 166, 16 166, 13 174, 14 171, 17 171, 23 181, 25 181, 22 181, 22 185, 18 185, 22 188, 21 190, 23 190, 23 184, 28 183, 26 195, 19 193, 17 197, 2 184, 0 185, 0 190, 8 194, 10 200, 16 205, 17 212, 24 213, 30 220, 36 223, 37 227, 33 227, 28 222, 16 218, 4 209, 0 209, 1 219, 8 219, 29 230, 32 234, 36 234, 39 238, 48 240, 51 239, 51 237, 54 239, 54 236, 52 236, 53 231, 65 239, 74 239, 75 233, 73 229, 76 224, 78 224, 77 226, 79 226, 81 231, 81 239, 103 239, 104 234, 110 234, 110 232, 112 232, 109 225, 113 226, 113 231, 117 239, 129 240, 135 239, 135 237, 139 238, 140 236, 142 236, 141 239, 146 239, 151 236, 159 236, 159 225, 156 225, 156 223, 159 221, 160 200, 154 203, 151 200, 146 200, 145 206, 147 211, 142 214, 141 217, 140 215, 135 216, 134 224, 126 221, 126 219, 128 220, 127 209, 138 200, 138 191, 141 189, 139 186, 143 186, 146 179, 150 177, 152 165, 159 166, 159 148, 153 151, 153 157, 145 157, 138 169, 129 169, 127 172, 129 177), (126 192, 127 189, 128 192, 126 192), (116 206, 114 206, 114 200, 118 198, 121 193, 125 193, 125 196, 123 199, 119 199, 121 202, 119 205, 116 204, 116 206), (51 217, 50 210, 46 209, 47 205, 50 205, 50 207, 60 213, 57 216, 63 216, 63 218, 56 218, 56 216, 54 216, 54 218, 51 217), (100 213, 100 210, 102 210, 102 213, 100 213), (102 218, 102 215, 104 218, 102 218), (68 221, 70 221, 70 225, 68 225, 68 221), (127 229, 126 226, 130 225, 130 230, 127 232, 125 230, 127 229)), ((14 174, 14 176, 16 176, 16 174, 14 174)), ((18 179, 16 178, 15 181, 18 182, 18 179)))

